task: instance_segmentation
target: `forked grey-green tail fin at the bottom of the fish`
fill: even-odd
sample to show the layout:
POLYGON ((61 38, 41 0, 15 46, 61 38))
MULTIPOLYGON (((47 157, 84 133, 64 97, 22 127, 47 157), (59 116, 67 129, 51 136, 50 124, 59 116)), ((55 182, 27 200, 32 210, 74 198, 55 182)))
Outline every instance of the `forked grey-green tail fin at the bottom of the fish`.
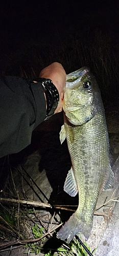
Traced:
POLYGON ((61 227, 57 233, 57 238, 61 240, 67 239, 69 243, 79 232, 83 233, 85 239, 88 240, 90 232, 92 229, 92 224, 86 225, 83 221, 79 220, 74 213, 69 220, 61 227))

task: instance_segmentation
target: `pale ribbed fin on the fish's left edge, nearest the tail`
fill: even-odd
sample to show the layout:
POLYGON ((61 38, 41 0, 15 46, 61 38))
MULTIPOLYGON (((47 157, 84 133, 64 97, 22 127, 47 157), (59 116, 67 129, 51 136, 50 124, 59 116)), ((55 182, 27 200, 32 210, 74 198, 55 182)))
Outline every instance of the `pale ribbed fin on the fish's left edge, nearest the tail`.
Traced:
POLYGON ((71 197, 75 197, 78 193, 78 187, 75 180, 75 175, 73 171, 73 167, 68 171, 65 183, 64 183, 64 191, 69 194, 71 197))

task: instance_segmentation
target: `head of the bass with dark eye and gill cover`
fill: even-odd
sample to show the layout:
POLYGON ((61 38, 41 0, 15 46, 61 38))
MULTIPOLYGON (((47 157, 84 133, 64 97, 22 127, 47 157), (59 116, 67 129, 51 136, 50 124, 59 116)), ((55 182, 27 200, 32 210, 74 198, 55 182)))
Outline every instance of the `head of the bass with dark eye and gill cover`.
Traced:
POLYGON ((63 110, 68 121, 83 125, 92 119, 97 112, 96 94, 99 92, 98 84, 88 68, 68 74, 63 98, 63 110))

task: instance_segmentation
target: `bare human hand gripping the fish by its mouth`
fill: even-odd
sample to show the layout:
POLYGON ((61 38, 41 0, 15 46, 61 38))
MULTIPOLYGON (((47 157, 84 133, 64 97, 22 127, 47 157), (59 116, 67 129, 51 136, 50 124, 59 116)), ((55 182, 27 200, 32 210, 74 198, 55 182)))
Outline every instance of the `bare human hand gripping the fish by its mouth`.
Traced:
POLYGON ((61 112, 62 109, 62 101, 63 101, 63 89, 65 87, 66 81, 66 73, 62 65, 58 62, 53 62, 51 65, 42 69, 39 77, 49 78, 53 81, 59 92, 59 103, 57 109, 55 110, 55 114, 61 112))

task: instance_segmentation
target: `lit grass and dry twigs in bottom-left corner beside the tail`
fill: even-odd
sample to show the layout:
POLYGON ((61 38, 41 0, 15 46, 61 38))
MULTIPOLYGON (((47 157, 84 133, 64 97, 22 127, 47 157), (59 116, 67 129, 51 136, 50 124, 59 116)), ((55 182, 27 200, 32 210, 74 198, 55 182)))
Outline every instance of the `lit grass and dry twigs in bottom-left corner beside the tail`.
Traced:
MULTIPOLYGON (((14 177, 12 175, 13 186, 14 177)), ((9 180, 8 180, 9 184, 9 180)), ((16 191, 16 195, 18 195, 18 191, 16 191)), ((4 191, 4 195, 7 195, 7 190, 4 191)), ((9 190, 9 197, 13 196, 13 192, 9 190)), ((45 256, 52 255, 81 255, 86 256, 87 253, 83 249, 83 247, 79 244, 79 242, 74 239, 69 245, 65 242, 61 242, 56 239, 55 228, 58 228, 58 221, 55 221, 54 217, 49 214, 47 223, 47 217, 45 217, 46 213, 42 216, 42 210, 37 210, 37 208, 32 208, 32 206, 25 206, 25 204, 19 204, 20 198, 18 196, 18 200, 9 200, 9 201, 1 201, 0 205, 0 252, 3 251, 4 244, 6 244, 8 249, 15 245, 19 247, 19 243, 22 244, 24 249, 26 250, 24 253, 34 253, 38 254, 39 252, 43 253, 45 256), (19 202, 18 202, 19 201, 19 202), (45 221, 44 221, 45 220, 45 221), (46 222, 46 223, 45 223, 46 222), (55 228, 52 228, 52 223, 55 228), (53 242, 51 243, 51 239, 53 242), (50 242, 49 242, 50 240, 50 242), (57 245, 56 245, 57 244, 57 245), (55 247, 54 247, 55 245, 55 247)), ((35 206, 33 206, 35 207, 35 206)), ((45 210, 45 209, 44 209, 45 210)), ((47 208, 48 212, 49 208, 47 208)), ((6 247, 5 247, 6 248, 6 247)))

